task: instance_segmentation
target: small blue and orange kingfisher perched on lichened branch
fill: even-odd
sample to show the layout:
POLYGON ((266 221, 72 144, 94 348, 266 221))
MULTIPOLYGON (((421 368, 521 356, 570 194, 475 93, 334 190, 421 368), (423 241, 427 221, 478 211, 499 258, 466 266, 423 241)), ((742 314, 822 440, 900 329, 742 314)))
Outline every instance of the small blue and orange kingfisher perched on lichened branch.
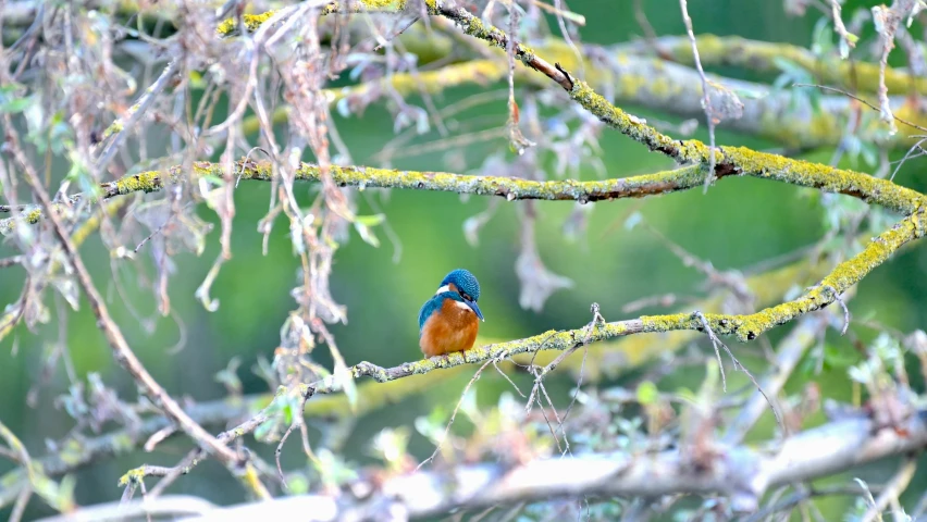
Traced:
POLYGON ((477 340, 483 312, 477 306, 480 282, 457 269, 444 276, 434 296, 419 311, 419 347, 425 357, 469 350, 477 340), (477 320, 480 321, 477 321, 477 320))

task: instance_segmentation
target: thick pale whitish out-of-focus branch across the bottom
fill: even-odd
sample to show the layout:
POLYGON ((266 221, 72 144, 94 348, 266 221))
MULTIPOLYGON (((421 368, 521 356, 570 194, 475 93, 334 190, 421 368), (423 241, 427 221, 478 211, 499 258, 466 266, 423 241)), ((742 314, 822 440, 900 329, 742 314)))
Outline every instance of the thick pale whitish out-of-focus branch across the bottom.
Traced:
MULTIPOLYGON (((369 484, 361 478, 353 489, 373 492, 362 499, 349 493, 338 502, 321 495, 291 496, 200 511, 200 517, 185 520, 230 520, 246 513, 267 517, 269 512, 284 512, 284 508, 293 512, 297 506, 311 506, 314 514, 307 511, 306 515, 312 521, 374 520, 384 506, 419 519, 499 504, 679 494, 725 495, 730 497, 736 512, 754 512, 769 488, 813 481, 924 448, 925 418, 927 411, 920 411, 895 426, 900 430, 879 426, 863 415, 845 418, 799 433, 771 452, 716 444, 707 465, 696 465, 691 456, 678 449, 557 457, 515 467, 461 465, 446 472, 411 472, 369 484)), ((107 508, 108 505, 88 508, 85 520, 97 520, 92 515, 110 512, 107 508)), ((128 512, 143 513, 134 508, 128 512)), ((58 520, 61 519, 46 522, 58 520)))

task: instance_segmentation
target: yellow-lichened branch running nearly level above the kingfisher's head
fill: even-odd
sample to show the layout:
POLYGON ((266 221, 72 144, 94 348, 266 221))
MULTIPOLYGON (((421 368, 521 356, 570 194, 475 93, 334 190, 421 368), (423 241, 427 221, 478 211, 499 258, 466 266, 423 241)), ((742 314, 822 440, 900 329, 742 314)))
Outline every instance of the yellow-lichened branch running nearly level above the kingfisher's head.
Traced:
MULTIPOLYGON (((580 84, 578 84, 580 85, 580 84)), ((594 92, 589 96, 595 98, 594 92)), ((604 100, 602 100, 604 102, 604 100)), ((591 103, 597 103, 595 100, 591 103)), ((667 136, 646 125, 640 124, 622 112, 604 102, 597 105, 608 114, 616 127, 656 150, 667 151, 681 160, 707 162, 707 147, 700 141, 672 141, 667 136), (610 109, 609 109, 610 108, 610 109), (705 154, 704 157, 700 154, 705 154), (701 159, 700 159, 701 158, 701 159)), ((895 185, 888 179, 867 174, 801 160, 790 160, 781 156, 755 152, 743 147, 721 147, 718 158, 719 169, 716 175, 750 175, 764 179, 789 183, 823 190, 844 194, 868 203, 882 206, 889 210, 910 214, 927 207, 927 197, 923 194, 895 185), (724 166, 724 169, 721 169, 724 166)), ((273 166, 270 162, 240 160, 235 165, 236 177, 251 181, 271 181, 273 166)), ((369 166, 332 166, 333 181, 342 187, 399 188, 410 190, 435 190, 479 196, 498 196, 509 201, 519 199, 540 199, 548 201, 610 201, 623 198, 642 198, 659 194, 669 194, 703 186, 705 167, 690 165, 672 171, 630 176, 615 179, 577 182, 573 179, 534 182, 528 179, 498 176, 468 176, 446 172, 398 171, 369 166)), ((83 200, 103 200, 132 192, 156 192, 165 186, 197 179, 201 176, 222 176, 220 163, 196 162, 193 172, 186 173, 181 165, 162 171, 147 171, 131 174, 114 182, 103 183, 95 196, 75 195, 72 202, 83 200)), ((296 179, 318 182, 321 171, 317 165, 304 163, 296 172, 296 179)), ((64 212, 70 206, 55 203, 55 212, 64 212)), ((0 207, 0 212, 9 212, 9 207, 0 207)), ((18 210, 26 223, 38 223, 42 219, 41 209, 24 207, 18 210)), ((0 220, 0 234, 9 234, 15 226, 15 217, 0 220)))

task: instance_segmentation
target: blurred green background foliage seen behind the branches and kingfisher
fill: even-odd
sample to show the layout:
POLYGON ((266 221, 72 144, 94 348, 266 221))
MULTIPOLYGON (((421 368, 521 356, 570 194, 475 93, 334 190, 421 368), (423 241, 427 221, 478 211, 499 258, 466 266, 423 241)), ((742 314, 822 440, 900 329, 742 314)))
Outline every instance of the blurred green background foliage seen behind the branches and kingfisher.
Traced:
MULTIPOLYGON (((677 1, 644 3, 659 35, 683 34, 677 1)), ((846 2, 844 13, 863 4, 846 2)), ((764 0, 691 0, 689 8, 696 34, 741 35, 800 46, 809 44, 818 18, 817 14, 789 17, 783 12, 782 2, 764 0)), ((581 30, 586 42, 618 44, 640 36, 630 0, 573 0, 570 9, 586 16, 588 25, 581 30)), ((717 72, 753 77, 738 71, 717 72)), ((495 87, 502 89, 504 85, 495 87)), ((444 107, 482 90, 485 89, 452 89, 437 97, 435 102, 444 107)), ((410 99, 412 103, 419 101, 410 99)), ((673 121, 665 114, 634 107, 626 109, 642 117, 673 121)), ((503 123, 505 101, 483 105, 466 117, 481 115, 497 117, 503 123), (491 111, 491 114, 481 114, 481 111, 491 111)), ((336 124, 355 161, 378 166, 371 157, 392 137, 392 119, 387 111, 382 105, 373 105, 360 117, 336 116, 336 124)), ((696 137, 706 139, 704 129, 696 137)), ((432 133, 418 142, 435 138, 436 134, 432 133)), ((777 146, 724 130, 718 132, 717 140, 719 144, 761 149, 777 146)), ((625 177, 670 166, 665 158, 644 151, 641 146, 615 132, 605 130, 601 145, 608 177, 625 177)), ((505 139, 468 147, 464 150, 467 166, 477 167, 487 152, 507 148, 505 139)), ((827 162, 831 153, 829 150, 818 151, 805 158, 827 162)), ((507 154, 512 157, 511 152, 507 154)), ((394 161, 394 166, 452 170, 444 159, 442 152, 404 157, 394 161)), ((917 173, 919 161, 909 162, 895 178, 897 183, 917 190, 927 188, 927 182, 917 173)), ((63 171, 64 164, 61 166, 63 171)), ((872 172, 865 165, 858 167, 872 172)), ((584 179, 595 176, 591 169, 582 174, 584 179)), ((316 187, 299 185, 298 189, 308 200, 316 187)), ((433 294, 441 277, 458 266, 471 270, 481 282, 480 307, 486 316, 481 334, 492 338, 521 338, 549 328, 580 327, 590 321, 589 307, 593 301, 601 304, 606 320, 619 320, 625 319, 621 307, 642 297, 667 293, 699 294, 703 277, 696 271, 683 266, 678 258, 642 228, 628 231, 622 226, 635 210, 667 237, 690 252, 710 260, 719 270, 746 268, 809 245, 820 238, 825 228, 825 211, 817 199, 807 197, 806 190, 752 178, 724 181, 707 194, 691 190, 642 202, 619 200, 597 203, 591 210, 589 228, 576 240, 569 240, 560 232, 574 203, 540 202, 537 244, 541 258, 552 271, 570 277, 574 286, 557 291, 541 313, 534 313, 519 307, 519 284, 515 275, 515 260, 519 253, 516 207, 522 203, 503 202, 490 225, 480 233, 479 246, 473 248, 465 240, 462 224, 483 211, 487 199, 401 190, 386 197, 373 191, 367 194, 373 194, 372 198, 385 212, 401 252, 398 262, 394 262, 395 246, 379 228, 380 248, 364 244, 351 232, 349 243, 336 254, 332 294, 337 302, 347 306, 348 324, 334 326, 333 333, 348 364, 368 360, 388 366, 419 358, 419 307, 433 294)), ((242 360, 238 374, 245 393, 267 390, 264 383, 250 372, 250 366, 259 355, 269 360, 273 357, 280 341, 280 326, 287 312, 295 308, 289 290, 297 284, 298 268, 283 219, 275 222, 269 254, 261 254, 262 238, 256 231, 256 224, 267 211, 269 195, 270 185, 260 183, 242 183, 235 191, 234 258, 222 268, 213 286, 212 295, 220 301, 214 313, 203 310, 193 295, 219 252, 218 220, 205 206, 199 209, 199 214, 217 223, 217 227, 210 234, 209 247, 201 257, 182 253, 174 258, 178 270, 171 278, 171 304, 183 318, 187 335, 185 347, 177 353, 168 352, 180 335, 172 319, 159 319, 154 333, 149 335, 121 306, 122 301, 112 291, 112 284, 108 283, 111 279, 109 254, 99 238, 91 238, 82 248, 84 259, 94 269, 96 283, 104 294, 113 297, 110 306, 133 349, 175 397, 195 400, 223 397, 225 390, 213 375, 233 357, 242 360)), ((360 213, 374 212, 364 198, 360 197, 358 201, 360 213)), ((0 246, 0 254, 8 253, 9 247, 0 246)), ((145 270, 150 273, 150 257, 139 256, 135 262, 145 263, 145 270)), ((132 266, 132 262, 127 261, 121 264, 132 266)), ((857 297, 850 303, 854 316, 872 316, 902 331, 923 327, 927 320, 923 297, 927 288, 919 274, 925 268, 927 252, 917 246, 876 270, 861 284, 857 297)), ((0 302, 11 302, 18 296, 23 274, 21 269, 0 272, 0 302)), ((145 315, 153 316, 156 303, 150 291, 139 289, 125 273, 124 277, 135 307, 145 315)), ((783 293, 786 290, 782 288, 783 293)), ((775 340, 783 333, 774 332, 770 337, 775 340)), ((52 406, 54 397, 66 391, 66 378, 60 368, 53 386, 41 389, 39 406, 36 409, 26 406, 26 393, 40 372, 44 347, 57 335, 58 324, 52 320, 37 334, 17 327, 14 336, 0 344, 0 397, 3 398, 0 400, 0 419, 21 436, 33 456, 45 452, 45 439, 59 438, 72 426, 70 419, 52 406), (17 345, 16 355, 13 355, 14 344, 17 345)), ((69 319, 67 339, 79 376, 99 372, 108 385, 120 391, 121 397, 135 397, 132 381, 113 362, 86 301, 81 311, 72 313, 69 319)), ((836 346, 846 345, 845 340, 832 340, 836 346)), ((331 368, 330 357, 324 351, 317 353, 318 361, 331 368)), ((753 370, 759 373, 763 369, 753 370)), ((826 383, 824 395, 846 399, 849 381, 842 371, 836 373, 823 380, 826 383)), ((467 373, 467 378, 470 374, 467 373)), ((560 378, 563 398, 572 381, 566 376, 560 378)), ((436 403, 453 405, 464 383, 466 378, 452 380, 424 396, 361 419, 347 446, 347 456, 357 461, 367 460, 366 444, 371 435, 386 426, 411 425, 417 415, 425 414, 436 403)), ((695 383, 697 380, 690 385, 695 383)), ((491 396, 489 401, 494 402, 492 395, 504 387, 505 384, 481 382, 480 393, 481 396, 491 396)), ((259 445, 250 446, 256 449, 259 445)), ((173 465, 189 448, 184 437, 177 437, 161 444, 153 453, 139 451, 81 471, 77 474, 77 499, 82 504, 118 499, 122 490, 116 487, 116 480, 127 469, 141 463, 173 465)), ((302 465, 305 457, 298 444, 288 448, 284 453, 284 464, 291 468, 302 465)), ((411 448, 420 457, 431 451, 431 446, 420 436, 413 437, 411 448)), ((261 447, 260 451, 271 455, 272 448, 261 447)), ((7 465, 0 461, 0 471, 7 471, 7 465)), ((891 469, 875 467, 872 476, 882 477, 891 469)), ((925 485, 927 474, 922 472, 915 477, 910 492, 918 492, 925 485)), ((243 494, 237 482, 214 462, 200 465, 191 475, 178 480, 170 490, 199 495, 223 504, 240 501, 243 494)), ((47 512, 46 509, 34 501, 30 512, 47 512)))

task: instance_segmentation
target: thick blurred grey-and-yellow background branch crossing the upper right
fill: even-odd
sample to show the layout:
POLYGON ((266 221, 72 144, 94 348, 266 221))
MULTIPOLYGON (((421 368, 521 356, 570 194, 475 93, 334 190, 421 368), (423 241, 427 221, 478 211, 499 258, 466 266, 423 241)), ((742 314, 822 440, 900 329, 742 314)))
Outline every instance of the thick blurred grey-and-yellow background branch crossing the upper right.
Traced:
MULTIPOLYGON (((417 38, 427 36, 418 35, 417 38)), ((531 52, 535 55, 546 55, 549 61, 559 63, 563 67, 586 71, 589 84, 598 89, 607 89, 616 101, 646 107, 680 117, 704 115, 703 96, 699 87, 701 78, 691 67, 658 58, 629 53, 622 46, 609 48, 588 46, 585 50, 585 55, 580 57, 582 61, 579 61, 566 42, 553 37, 531 48, 531 52)), ((498 48, 489 51, 494 59, 470 60, 435 71, 394 73, 379 82, 325 89, 324 92, 330 104, 348 100, 347 109, 350 110, 355 103, 360 107, 370 103, 387 88, 394 89, 399 95, 410 95, 435 94, 461 84, 484 85, 502 79, 508 71, 505 51, 498 48)), ((712 49, 708 50, 710 51, 712 49)), ((421 54, 425 50, 418 49, 417 52, 421 54)), ((532 74, 528 69, 516 71, 516 76, 531 86, 543 87, 546 84, 544 77, 532 74)), ((845 134, 844 122, 855 117, 854 113, 857 110, 856 103, 845 96, 819 96, 814 110, 796 110, 793 91, 777 90, 767 84, 708 76, 733 92, 751 94, 750 97, 741 100, 743 115, 725 119, 720 123, 720 128, 763 136, 789 147, 811 149, 839 145, 845 134)), ((927 126, 927 121, 920 111, 923 102, 918 98, 894 96, 891 97, 891 101, 893 111, 899 116, 914 124, 927 126)), ((286 122, 289 110, 289 105, 277 108, 271 120, 274 123, 286 122)), ((246 134, 258 132, 257 116, 245 117, 242 129, 246 134)), ((870 138, 895 148, 909 148, 913 142, 904 133, 887 136, 880 130, 881 127, 876 120, 875 123, 865 124, 856 133, 861 139, 870 138)))

